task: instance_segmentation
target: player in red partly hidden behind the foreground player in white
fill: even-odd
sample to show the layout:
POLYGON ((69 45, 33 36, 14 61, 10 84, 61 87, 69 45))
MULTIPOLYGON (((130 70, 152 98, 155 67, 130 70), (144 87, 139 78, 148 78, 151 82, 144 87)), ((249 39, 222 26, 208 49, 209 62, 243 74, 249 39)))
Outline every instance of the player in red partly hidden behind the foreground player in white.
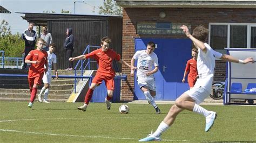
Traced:
POLYGON ((190 88, 193 88, 194 84, 197 81, 197 76, 198 76, 198 73, 197 73, 197 54, 198 54, 198 49, 193 48, 192 51, 191 51, 192 59, 187 61, 187 65, 186 65, 186 68, 185 68, 185 71, 184 71, 184 76, 183 76, 183 79, 182 79, 182 82, 184 83, 185 82, 185 77, 187 76, 187 73, 189 73, 188 76, 187 76, 187 82, 188 82, 188 85, 190 86, 190 88))

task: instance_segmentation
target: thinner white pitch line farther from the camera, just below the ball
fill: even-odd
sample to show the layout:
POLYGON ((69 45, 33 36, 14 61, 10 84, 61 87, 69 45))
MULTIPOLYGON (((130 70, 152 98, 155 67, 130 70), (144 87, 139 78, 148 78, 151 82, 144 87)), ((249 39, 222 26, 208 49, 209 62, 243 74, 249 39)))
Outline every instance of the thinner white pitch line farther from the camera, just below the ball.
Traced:
POLYGON ((87 118, 38 118, 38 119, 14 119, 14 120, 0 120, 1 122, 9 122, 9 121, 24 121, 24 120, 65 120, 65 119, 144 119, 144 117, 87 117, 87 118))

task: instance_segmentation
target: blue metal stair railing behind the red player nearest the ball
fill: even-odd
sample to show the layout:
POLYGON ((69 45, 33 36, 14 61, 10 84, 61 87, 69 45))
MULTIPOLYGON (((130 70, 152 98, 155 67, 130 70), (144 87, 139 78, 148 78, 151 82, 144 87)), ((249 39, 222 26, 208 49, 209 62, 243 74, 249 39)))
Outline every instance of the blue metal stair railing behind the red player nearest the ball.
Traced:
MULTIPOLYGON (((83 55, 90 53, 91 52, 90 48, 97 48, 98 49, 98 48, 100 48, 100 46, 88 45, 85 48, 85 51, 83 52, 83 55)), ((77 76, 77 71, 81 71, 80 75, 83 76, 84 71, 85 71, 86 68, 88 70, 91 70, 91 62, 96 62, 96 61, 95 60, 91 60, 90 58, 89 59, 78 60, 77 65, 75 66, 75 76, 77 76), (86 63, 86 60, 87 60, 87 63, 86 63)), ((82 81, 83 81, 83 78, 82 78, 82 81)), ((90 78, 90 81, 91 81, 91 78, 90 78)), ((76 85, 77 85, 77 78, 75 78, 75 87, 74 87, 75 88, 75 93, 76 93, 76 85)))

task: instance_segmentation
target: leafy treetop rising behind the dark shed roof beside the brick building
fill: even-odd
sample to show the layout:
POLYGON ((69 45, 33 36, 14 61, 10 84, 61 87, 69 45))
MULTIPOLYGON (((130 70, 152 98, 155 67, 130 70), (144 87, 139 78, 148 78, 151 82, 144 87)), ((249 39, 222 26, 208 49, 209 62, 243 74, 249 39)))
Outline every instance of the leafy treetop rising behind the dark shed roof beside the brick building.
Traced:
POLYGON ((123 15, 122 8, 113 0, 106 0, 103 6, 99 6, 99 14, 123 15))

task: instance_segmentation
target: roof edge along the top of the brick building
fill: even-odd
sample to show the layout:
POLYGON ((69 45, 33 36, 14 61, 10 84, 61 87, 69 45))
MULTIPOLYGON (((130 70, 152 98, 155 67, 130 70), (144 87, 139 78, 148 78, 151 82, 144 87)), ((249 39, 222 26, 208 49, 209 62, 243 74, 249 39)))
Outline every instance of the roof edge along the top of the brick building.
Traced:
POLYGON ((115 0, 123 8, 248 8, 256 9, 256 1, 230 0, 115 0))

